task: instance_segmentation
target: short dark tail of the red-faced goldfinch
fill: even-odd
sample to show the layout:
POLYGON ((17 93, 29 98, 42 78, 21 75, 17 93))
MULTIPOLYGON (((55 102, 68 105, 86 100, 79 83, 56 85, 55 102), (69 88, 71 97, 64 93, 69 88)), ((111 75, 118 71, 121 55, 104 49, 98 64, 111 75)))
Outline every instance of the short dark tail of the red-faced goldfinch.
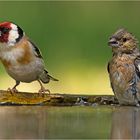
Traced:
POLYGON ((39 78, 43 83, 49 83, 50 80, 58 81, 56 78, 50 76, 46 70, 40 75, 39 78))

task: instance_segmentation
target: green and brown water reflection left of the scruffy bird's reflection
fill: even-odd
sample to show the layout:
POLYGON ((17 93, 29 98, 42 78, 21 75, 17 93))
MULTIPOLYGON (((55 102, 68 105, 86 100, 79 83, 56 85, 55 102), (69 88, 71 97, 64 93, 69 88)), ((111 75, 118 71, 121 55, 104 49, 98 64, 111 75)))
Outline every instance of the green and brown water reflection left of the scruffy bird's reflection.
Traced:
POLYGON ((0 107, 0 138, 109 138, 106 107, 0 107))

